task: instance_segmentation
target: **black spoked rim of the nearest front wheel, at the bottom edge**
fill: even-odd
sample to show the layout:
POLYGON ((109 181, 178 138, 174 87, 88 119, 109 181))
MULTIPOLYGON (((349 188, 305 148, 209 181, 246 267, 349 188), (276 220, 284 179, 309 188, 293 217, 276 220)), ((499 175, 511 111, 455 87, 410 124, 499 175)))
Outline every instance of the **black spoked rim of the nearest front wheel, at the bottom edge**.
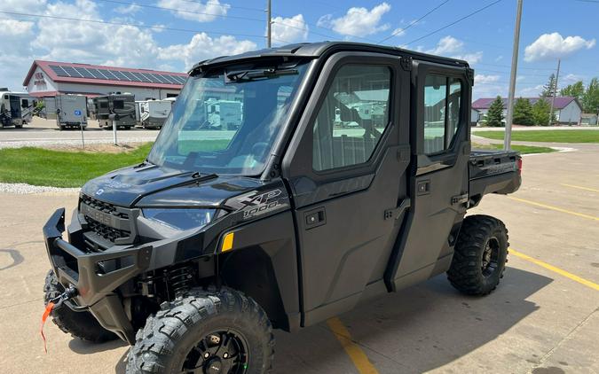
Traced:
POLYGON ((187 353, 181 373, 245 373, 248 352, 248 341, 240 332, 230 329, 210 332, 187 353))

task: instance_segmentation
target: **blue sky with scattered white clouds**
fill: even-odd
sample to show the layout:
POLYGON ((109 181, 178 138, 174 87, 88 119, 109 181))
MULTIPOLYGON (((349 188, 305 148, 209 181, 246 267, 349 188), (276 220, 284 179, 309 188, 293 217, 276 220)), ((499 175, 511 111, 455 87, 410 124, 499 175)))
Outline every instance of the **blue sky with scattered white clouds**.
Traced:
MULTIPOLYGON (((264 8, 265 0, 1 0, 0 87, 22 90, 34 59, 185 72, 264 48, 264 8)), ((599 76, 598 15, 599 0, 524 0, 516 96, 537 96, 558 58, 560 88, 599 76)), ((273 0, 272 43, 347 40, 463 58, 476 71, 475 99, 505 97, 515 19, 516 0, 273 0)))

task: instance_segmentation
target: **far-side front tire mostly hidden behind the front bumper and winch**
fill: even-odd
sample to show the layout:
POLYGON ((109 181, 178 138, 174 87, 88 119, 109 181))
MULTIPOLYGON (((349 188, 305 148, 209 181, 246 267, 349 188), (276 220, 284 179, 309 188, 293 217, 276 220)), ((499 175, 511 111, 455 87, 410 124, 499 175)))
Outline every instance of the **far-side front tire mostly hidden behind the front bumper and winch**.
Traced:
MULTIPOLYGON (((50 300, 56 298, 62 292, 65 292, 65 288, 62 284, 59 284, 58 278, 50 270, 43 285, 43 304, 48 305, 50 300)), ((94 343, 102 343, 118 338, 114 332, 107 331, 102 327, 90 312, 74 312, 63 305, 61 308, 53 310, 51 316, 52 321, 59 326, 60 330, 70 333, 75 338, 94 343)))

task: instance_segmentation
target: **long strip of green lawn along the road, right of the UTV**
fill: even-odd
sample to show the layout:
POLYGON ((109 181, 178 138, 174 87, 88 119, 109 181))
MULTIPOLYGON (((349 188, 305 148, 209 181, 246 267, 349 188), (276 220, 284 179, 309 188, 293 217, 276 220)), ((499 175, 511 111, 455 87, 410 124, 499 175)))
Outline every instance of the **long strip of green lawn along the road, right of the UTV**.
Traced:
MULTIPOLYGON (((503 131, 475 130, 473 134, 489 139, 503 139, 503 131)), ((512 140, 522 142, 599 143, 599 130, 516 130, 512 131, 512 140)))

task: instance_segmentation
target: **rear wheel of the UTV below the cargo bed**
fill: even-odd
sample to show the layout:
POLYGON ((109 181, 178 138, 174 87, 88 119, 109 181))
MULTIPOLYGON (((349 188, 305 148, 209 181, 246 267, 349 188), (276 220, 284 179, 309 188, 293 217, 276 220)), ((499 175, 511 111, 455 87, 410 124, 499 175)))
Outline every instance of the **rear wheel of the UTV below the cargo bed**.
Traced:
POLYGON ((508 230, 488 215, 470 215, 461 224, 447 278, 460 292, 486 295, 503 277, 508 261, 508 230))

